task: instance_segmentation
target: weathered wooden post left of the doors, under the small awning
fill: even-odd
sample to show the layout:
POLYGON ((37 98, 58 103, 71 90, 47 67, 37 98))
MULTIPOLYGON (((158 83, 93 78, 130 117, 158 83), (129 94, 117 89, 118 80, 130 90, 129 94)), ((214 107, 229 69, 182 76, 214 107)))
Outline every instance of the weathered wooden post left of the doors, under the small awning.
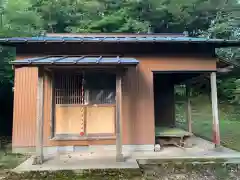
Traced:
POLYGON ((37 127, 36 127, 36 159, 34 164, 43 163, 43 105, 44 105, 44 72, 38 68, 37 94, 37 127))

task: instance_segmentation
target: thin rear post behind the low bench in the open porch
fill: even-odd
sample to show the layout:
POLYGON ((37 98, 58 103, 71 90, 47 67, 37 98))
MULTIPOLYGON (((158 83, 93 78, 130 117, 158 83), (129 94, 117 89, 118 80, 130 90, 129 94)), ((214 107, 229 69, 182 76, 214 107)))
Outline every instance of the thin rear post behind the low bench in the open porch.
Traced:
POLYGON ((188 131, 192 133, 192 107, 190 99, 190 87, 189 84, 186 84, 186 115, 188 123, 188 131))

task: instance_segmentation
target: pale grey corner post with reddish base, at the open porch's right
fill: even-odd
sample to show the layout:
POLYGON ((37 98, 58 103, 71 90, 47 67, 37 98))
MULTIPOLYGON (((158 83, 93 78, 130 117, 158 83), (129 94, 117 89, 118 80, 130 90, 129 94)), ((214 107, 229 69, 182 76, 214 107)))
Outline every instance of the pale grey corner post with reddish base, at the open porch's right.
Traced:
POLYGON ((216 72, 211 73, 211 98, 212 98, 212 114, 213 114, 213 141, 215 147, 220 146, 220 131, 218 119, 218 101, 217 101, 217 78, 216 72))

